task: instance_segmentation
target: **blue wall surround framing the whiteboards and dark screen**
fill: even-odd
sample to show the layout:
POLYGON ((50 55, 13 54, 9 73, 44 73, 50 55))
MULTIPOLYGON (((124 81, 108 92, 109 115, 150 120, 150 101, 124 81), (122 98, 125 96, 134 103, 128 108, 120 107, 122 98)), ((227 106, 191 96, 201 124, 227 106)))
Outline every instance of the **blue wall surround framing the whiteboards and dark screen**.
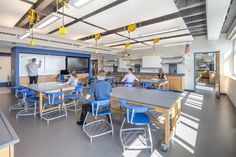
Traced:
POLYGON ((89 59, 89 76, 92 75, 91 68, 91 54, 77 53, 77 52, 67 52, 58 50, 47 50, 38 48, 28 48, 28 47, 13 47, 11 53, 11 66, 12 66, 12 85, 19 85, 19 54, 41 54, 41 55, 55 55, 55 56, 68 56, 68 57, 80 57, 89 59))

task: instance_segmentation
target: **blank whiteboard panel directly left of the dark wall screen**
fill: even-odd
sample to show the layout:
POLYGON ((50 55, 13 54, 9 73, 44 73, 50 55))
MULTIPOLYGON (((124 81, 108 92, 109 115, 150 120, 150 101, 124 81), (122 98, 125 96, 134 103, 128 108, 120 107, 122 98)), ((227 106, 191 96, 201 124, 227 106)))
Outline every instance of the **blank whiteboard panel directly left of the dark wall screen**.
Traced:
POLYGON ((65 56, 45 56, 45 75, 57 75, 66 69, 65 56))

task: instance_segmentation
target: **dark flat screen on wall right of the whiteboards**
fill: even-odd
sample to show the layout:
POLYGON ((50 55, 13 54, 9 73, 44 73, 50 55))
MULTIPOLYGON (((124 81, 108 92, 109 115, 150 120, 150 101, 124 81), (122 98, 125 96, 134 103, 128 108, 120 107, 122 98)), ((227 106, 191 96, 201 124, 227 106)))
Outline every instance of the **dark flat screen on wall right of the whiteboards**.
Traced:
POLYGON ((76 70, 78 73, 89 72, 89 59, 78 57, 67 57, 67 70, 76 70))

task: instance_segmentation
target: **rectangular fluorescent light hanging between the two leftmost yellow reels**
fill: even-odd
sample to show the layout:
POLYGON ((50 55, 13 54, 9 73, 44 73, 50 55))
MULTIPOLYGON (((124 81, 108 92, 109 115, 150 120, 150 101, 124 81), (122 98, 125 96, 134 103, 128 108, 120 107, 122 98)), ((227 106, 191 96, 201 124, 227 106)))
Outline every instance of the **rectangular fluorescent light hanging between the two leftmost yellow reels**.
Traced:
POLYGON ((43 29, 45 27, 47 27, 48 25, 52 24, 53 22, 59 20, 62 18, 62 15, 58 14, 58 13, 51 13, 49 14, 47 17, 45 17, 44 19, 42 19, 41 21, 39 21, 34 28, 36 29, 43 29))

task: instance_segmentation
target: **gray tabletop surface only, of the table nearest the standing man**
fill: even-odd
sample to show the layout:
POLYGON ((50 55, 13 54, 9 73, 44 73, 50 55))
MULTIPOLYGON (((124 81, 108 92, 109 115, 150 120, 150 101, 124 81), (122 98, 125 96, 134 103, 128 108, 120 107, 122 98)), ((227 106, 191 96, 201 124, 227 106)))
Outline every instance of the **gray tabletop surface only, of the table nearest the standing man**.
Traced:
POLYGON ((38 91, 38 92, 47 92, 53 90, 60 90, 63 88, 74 87, 72 85, 63 85, 61 82, 46 82, 46 83, 38 83, 38 84, 29 84, 25 85, 25 87, 38 91))

